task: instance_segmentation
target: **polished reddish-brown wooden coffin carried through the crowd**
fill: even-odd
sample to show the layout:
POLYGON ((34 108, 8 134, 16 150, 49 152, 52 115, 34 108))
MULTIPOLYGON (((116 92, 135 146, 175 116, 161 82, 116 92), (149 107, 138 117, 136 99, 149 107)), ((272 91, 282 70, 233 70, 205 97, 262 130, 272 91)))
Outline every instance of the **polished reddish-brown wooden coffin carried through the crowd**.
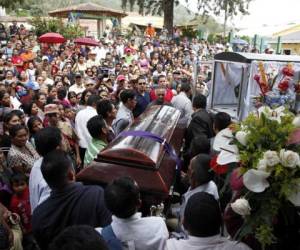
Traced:
MULTIPOLYGON (((178 124, 180 111, 170 106, 149 107, 126 131, 148 131, 164 138, 180 152, 185 124, 178 124)), ((112 141, 92 164, 77 175, 85 183, 105 185, 131 176, 142 192, 167 196, 174 182, 176 162, 162 144, 150 138, 126 136, 112 141)))

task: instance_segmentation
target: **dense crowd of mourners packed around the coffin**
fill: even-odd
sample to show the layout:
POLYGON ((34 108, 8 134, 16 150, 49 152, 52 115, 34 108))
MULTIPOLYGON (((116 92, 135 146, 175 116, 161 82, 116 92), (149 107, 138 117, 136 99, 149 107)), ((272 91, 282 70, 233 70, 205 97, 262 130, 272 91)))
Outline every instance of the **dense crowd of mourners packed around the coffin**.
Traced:
POLYGON ((221 199, 210 170, 214 137, 231 124, 228 114, 206 110, 205 60, 219 48, 196 38, 162 40, 152 29, 129 40, 108 32, 97 47, 40 44, 16 23, 6 34, 0 249, 250 249, 221 230, 231 197, 221 199), (105 189, 76 182, 76 173, 152 105, 180 110, 188 124, 173 227, 142 217, 139 186, 130 177, 105 189))

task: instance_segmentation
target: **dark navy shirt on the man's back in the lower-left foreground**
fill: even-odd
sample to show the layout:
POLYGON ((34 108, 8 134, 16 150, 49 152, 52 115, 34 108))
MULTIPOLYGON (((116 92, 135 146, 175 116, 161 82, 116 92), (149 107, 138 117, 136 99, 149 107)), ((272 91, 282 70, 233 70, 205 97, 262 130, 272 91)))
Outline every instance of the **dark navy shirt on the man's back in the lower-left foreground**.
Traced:
POLYGON ((32 215, 33 234, 42 250, 68 226, 104 227, 110 223, 111 214, 104 204, 103 189, 81 183, 52 191, 32 215))

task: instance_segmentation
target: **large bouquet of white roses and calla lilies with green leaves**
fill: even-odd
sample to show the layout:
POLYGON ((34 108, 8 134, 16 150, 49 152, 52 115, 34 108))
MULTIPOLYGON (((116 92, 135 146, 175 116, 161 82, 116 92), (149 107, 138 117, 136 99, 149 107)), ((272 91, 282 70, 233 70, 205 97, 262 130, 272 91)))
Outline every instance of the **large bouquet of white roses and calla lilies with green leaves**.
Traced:
POLYGON ((238 162, 242 178, 241 198, 230 204, 244 218, 237 239, 252 234, 263 248, 271 245, 279 211, 300 206, 299 132, 299 116, 263 106, 235 127, 221 149, 215 164, 238 162))

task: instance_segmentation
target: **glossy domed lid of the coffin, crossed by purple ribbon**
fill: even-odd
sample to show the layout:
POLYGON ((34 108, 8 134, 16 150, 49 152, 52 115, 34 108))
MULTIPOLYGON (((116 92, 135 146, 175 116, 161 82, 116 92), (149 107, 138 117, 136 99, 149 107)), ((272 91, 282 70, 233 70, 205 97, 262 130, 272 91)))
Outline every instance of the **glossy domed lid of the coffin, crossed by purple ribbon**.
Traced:
MULTIPOLYGON (((170 106, 151 106, 126 131, 147 131, 170 142, 180 111, 170 106)), ((117 137, 100 152, 96 161, 145 169, 158 169, 165 150, 151 138, 117 137)))

